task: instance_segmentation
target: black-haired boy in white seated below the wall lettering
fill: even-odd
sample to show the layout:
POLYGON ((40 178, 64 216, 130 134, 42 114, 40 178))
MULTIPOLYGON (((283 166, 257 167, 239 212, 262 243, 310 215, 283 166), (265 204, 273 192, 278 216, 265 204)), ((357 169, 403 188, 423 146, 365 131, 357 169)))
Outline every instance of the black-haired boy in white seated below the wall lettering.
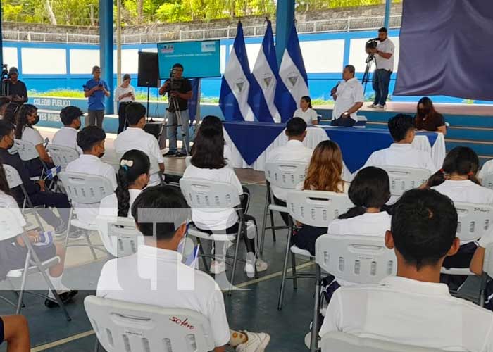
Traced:
POLYGON ((84 113, 77 106, 65 106, 60 111, 60 120, 63 123, 63 127, 54 134, 51 143, 57 146, 68 146, 82 154, 82 150, 77 146, 77 132, 79 132, 82 125, 82 122, 80 122, 82 115, 84 113))

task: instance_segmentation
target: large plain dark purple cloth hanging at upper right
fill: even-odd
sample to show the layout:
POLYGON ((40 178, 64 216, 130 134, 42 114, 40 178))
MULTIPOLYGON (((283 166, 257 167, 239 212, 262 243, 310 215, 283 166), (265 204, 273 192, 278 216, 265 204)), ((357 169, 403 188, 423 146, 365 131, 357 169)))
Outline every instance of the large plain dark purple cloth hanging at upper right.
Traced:
POLYGON ((395 95, 493 101, 493 0, 404 0, 395 95))

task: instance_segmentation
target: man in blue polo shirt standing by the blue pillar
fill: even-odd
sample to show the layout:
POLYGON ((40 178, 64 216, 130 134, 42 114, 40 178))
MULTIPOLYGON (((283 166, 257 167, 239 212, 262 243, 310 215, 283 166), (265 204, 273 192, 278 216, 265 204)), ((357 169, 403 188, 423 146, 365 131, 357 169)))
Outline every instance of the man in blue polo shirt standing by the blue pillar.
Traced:
POLYGON ((88 99, 86 126, 97 125, 103 128, 105 96, 110 96, 108 84, 101 80, 101 68, 92 68, 92 79, 84 85, 84 96, 88 99))

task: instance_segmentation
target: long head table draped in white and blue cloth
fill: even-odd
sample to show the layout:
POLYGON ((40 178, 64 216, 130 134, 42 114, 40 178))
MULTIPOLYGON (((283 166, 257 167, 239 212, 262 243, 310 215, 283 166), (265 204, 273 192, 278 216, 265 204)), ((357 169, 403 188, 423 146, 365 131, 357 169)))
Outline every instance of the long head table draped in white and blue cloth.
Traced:
MULTIPOLYGON (((287 142, 285 124, 270 122, 224 122, 225 148, 230 149, 229 162, 235 168, 264 170, 270 151, 287 142)), ((354 127, 308 127, 304 145, 314 149, 330 139, 339 144, 344 163, 351 172, 359 170, 374 151, 392 144, 388 130, 354 127)), ((445 158, 445 140, 441 133, 417 132, 413 146, 428 151, 437 168, 445 158)))

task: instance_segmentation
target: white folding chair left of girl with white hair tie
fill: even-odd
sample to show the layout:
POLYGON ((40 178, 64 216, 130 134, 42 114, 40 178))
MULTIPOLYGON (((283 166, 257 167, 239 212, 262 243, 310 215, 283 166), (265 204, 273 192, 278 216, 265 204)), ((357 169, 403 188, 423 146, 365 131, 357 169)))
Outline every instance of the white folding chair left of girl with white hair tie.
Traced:
MULTIPOLYGON (((100 175, 89 175, 80 172, 61 172, 60 180, 67 192, 68 199, 72 203, 70 208, 70 215, 68 216, 70 222, 67 227, 67 234, 65 237, 65 248, 68 248, 68 235, 70 234, 70 227, 78 227, 80 229, 88 231, 97 231, 98 228, 94 224, 87 224, 77 218, 73 219, 73 205, 77 203, 77 206, 88 205, 94 203, 100 203, 104 197, 113 194, 113 186, 110 180, 100 175)), ((88 246, 91 249, 92 256, 97 259, 94 249, 98 249, 106 253, 101 246, 94 246, 89 239, 89 234, 85 234, 87 244, 71 244, 70 246, 88 246)))

